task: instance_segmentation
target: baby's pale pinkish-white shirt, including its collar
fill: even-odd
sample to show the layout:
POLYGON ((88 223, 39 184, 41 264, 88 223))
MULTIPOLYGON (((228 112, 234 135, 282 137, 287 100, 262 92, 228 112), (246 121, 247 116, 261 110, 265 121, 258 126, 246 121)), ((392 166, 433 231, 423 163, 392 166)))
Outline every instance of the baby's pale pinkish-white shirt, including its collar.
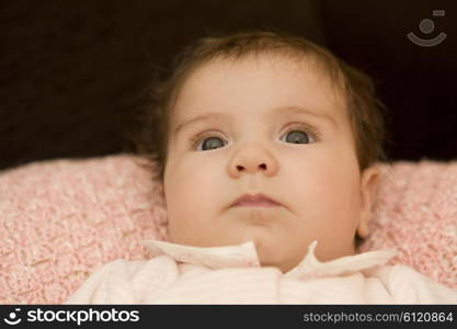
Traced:
POLYGON ((261 268, 255 246, 188 247, 149 241, 149 261, 99 269, 66 304, 457 304, 413 269, 384 265, 395 251, 319 262, 312 242, 287 273, 261 268))

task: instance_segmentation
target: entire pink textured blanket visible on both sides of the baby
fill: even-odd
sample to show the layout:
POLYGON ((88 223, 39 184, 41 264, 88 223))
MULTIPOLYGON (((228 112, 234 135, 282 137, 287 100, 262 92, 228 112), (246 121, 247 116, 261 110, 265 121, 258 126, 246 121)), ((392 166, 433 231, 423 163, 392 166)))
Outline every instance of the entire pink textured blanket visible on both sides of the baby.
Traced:
MULTIPOLYGON (((167 237, 160 186, 127 155, 35 162, 0 172, 0 304, 59 304, 101 265, 148 260, 167 237)), ((385 168, 361 251, 457 288, 457 162, 385 168)))

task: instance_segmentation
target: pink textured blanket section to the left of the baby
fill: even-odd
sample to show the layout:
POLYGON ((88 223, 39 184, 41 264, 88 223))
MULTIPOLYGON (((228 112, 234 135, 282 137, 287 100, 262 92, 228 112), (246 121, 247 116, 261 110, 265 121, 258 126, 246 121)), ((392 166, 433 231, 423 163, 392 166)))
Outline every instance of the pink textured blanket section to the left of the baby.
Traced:
POLYGON ((0 304, 59 304, 94 268, 146 259, 165 236, 150 174, 133 158, 36 162, 0 175, 0 304))

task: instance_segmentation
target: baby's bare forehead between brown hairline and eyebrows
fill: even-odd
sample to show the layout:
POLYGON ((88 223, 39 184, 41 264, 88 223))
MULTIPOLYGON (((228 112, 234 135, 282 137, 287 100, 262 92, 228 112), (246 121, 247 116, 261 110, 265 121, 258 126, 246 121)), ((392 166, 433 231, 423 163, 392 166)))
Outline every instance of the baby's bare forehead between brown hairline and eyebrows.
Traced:
POLYGON ((279 55, 217 58, 198 67, 183 84, 172 122, 205 112, 261 114, 296 106, 344 120, 345 102, 315 60, 279 55))

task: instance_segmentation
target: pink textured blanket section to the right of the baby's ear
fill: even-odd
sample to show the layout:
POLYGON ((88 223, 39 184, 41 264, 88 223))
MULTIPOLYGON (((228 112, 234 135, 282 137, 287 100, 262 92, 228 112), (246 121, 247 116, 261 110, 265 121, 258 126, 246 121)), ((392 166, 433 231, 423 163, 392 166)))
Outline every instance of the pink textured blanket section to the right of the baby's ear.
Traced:
POLYGON ((382 169, 372 235, 359 251, 395 247, 390 264, 457 288, 457 161, 399 161, 382 169))

